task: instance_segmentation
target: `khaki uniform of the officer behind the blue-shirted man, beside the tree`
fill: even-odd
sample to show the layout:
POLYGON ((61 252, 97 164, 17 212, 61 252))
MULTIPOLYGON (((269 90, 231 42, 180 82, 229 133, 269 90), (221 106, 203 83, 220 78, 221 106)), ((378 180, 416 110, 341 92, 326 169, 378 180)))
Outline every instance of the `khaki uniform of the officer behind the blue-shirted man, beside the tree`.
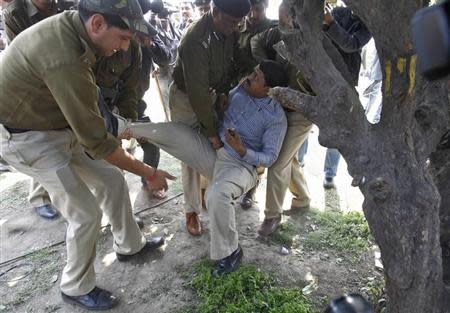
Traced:
MULTIPOLYGON (((306 94, 313 94, 311 87, 301 73, 273 49, 281 41, 278 27, 268 29, 251 40, 253 56, 259 61, 272 59, 286 63, 289 86, 306 94)), ((277 161, 269 168, 267 174, 265 218, 274 218, 283 213, 286 191, 293 194, 292 207, 306 207, 311 201, 308 185, 297 159, 297 152, 308 137, 312 123, 299 112, 286 112, 288 129, 277 161)))

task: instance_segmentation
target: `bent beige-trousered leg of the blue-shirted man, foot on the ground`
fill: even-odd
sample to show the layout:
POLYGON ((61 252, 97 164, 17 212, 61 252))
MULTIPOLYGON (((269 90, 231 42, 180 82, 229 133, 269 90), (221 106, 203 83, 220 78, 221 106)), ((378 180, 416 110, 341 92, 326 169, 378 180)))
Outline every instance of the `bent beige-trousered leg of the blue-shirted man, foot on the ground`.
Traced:
POLYGON ((214 176, 206 190, 211 259, 223 259, 238 248, 234 201, 256 184, 256 176, 254 168, 242 165, 224 148, 218 151, 214 176))

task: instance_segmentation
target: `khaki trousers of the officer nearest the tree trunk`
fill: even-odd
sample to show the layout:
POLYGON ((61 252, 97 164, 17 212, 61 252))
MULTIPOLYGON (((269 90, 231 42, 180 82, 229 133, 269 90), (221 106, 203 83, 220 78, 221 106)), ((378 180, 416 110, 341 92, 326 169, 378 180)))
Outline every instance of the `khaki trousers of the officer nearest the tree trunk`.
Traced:
POLYGON ((288 129, 276 162, 267 174, 265 218, 283 213, 283 201, 287 188, 294 195, 293 207, 308 206, 311 199, 303 168, 297 159, 297 152, 307 138, 312 123, 301 113, 287 112, 288 129))

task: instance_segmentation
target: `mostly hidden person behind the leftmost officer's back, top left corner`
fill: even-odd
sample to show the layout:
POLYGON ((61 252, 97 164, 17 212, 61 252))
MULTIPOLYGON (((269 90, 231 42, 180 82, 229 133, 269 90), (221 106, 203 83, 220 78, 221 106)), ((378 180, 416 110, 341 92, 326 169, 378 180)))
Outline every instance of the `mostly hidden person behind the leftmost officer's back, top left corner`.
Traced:
MULTIPOLYGON (((22 31, 58 13, 55 0, 14 0, 3 10, 6 38, 8 43, 22 31)), ((58 217, 58 211, 52 206, 47 191, 35 179, 32 179, 28 201, 36 213, 46 219, 58 217)))

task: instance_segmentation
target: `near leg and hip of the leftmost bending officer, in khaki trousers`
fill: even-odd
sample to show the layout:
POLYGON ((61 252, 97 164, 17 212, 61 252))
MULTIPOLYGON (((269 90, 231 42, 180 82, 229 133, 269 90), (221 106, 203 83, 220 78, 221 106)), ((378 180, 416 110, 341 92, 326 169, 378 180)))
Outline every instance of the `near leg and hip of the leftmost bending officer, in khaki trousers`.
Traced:
POLYGON ((72 163, 74 142, 75 135, 70 130, 26 132, 9 137, 2 131, 0 144, 8 163, 39 179, 67 220, 67 263, 61 276, 61 291, 80 296, 95 287, 95 245, 101 211, 72 163))

